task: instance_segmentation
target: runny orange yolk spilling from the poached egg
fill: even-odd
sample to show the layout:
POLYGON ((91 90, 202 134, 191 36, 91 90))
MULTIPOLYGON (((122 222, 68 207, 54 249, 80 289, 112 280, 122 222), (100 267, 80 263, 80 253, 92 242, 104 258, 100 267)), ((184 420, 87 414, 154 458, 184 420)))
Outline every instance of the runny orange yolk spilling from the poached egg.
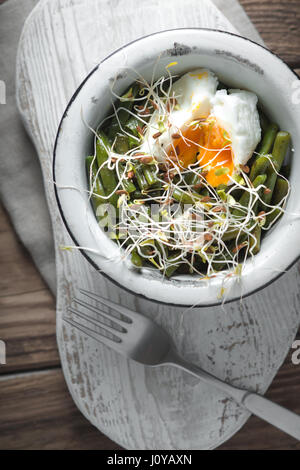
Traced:
POLYGON ((187 168, 199 162, 206 181, 213 187, 227 184, 234 170, 233 154, 228 134, 216 120, 208 118, 181 129, 182 136, 174 136, 168 155, 178 158, 187 168))

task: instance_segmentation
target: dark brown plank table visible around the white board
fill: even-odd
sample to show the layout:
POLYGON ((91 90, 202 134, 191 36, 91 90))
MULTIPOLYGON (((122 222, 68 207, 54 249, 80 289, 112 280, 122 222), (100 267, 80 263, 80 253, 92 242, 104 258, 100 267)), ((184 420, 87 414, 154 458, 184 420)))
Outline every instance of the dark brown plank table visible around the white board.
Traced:
MULTIPOLYGON (((241 3, 267 46, 300 73, 300 0, 241 3)), ((54 298, 3 208, 0 260, 0 338, 7 344, 7 365, 0 366, 0 449, 118 449, 73 404, 56 347, 54 298)), ((291 354, 267 397, 300 414, 300 365, 292 364, 291 354)), ((251 417, 220 449, 300 450, 300 443, 251 417)))

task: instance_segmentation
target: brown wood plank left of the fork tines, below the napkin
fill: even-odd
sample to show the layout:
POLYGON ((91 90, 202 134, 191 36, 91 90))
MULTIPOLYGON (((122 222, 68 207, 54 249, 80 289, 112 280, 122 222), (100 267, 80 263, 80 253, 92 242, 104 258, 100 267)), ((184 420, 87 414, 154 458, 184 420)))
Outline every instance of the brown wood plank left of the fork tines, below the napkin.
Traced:
POLYGON ((55 301, 0 206, 0 374, 58 366, 55 301))

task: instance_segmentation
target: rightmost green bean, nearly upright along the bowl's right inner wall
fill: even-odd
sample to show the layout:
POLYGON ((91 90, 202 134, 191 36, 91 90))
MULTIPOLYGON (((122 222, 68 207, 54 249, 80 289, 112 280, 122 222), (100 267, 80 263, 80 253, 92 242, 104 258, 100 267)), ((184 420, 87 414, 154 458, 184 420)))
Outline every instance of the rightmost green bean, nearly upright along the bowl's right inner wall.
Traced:
POLYGON ((280 131, 280 132, 278 132, 278 134, 276 136, 273 151, 272 151, 272 163, 273 163, 275 169, 273 168, 272 165, 267 169, 266 187, 270 191, 269 192, 264 192, 264 194, 262 196, 262 200, 263 200, 262 208, 263 208, 263 210, 267 210, 267 205, 269 205, 270 202, 271 202, 274 187, 275 187, 276 180, 277 180, 276 171, 277 172, 280 171, 280 168, 283 164, 283 161, 285 159, 285 156, 286 156, 289 144, 290 144, 290 139, 291 139, 291 136, 288 132, 280 131))

